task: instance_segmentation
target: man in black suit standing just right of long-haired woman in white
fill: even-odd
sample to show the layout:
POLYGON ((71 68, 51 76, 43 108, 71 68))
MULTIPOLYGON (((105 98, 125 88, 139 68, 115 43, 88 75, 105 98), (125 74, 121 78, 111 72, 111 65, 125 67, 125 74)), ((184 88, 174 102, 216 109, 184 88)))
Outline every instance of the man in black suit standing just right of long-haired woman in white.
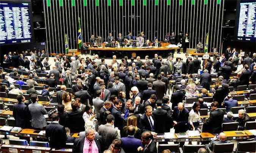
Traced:
POLYGON ((212 111, 210 113, 210 117, 207 121, 203 124, 202 132, 209 132, 209 133, 220 133, 221 132, 221 125, 223 123, 223 117, 225 112, 218 109, 218 102, 212 102, 211 107, 212 111))

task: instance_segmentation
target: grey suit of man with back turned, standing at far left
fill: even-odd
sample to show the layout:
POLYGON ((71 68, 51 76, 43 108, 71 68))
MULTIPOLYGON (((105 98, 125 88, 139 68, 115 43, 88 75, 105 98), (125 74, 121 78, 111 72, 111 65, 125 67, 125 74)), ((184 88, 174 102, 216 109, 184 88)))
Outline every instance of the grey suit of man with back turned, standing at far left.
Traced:
POLYGON ((46 109, 43 105, 38 104, 38 102, 28 105, 28 109, 31 114, 31 127, 42 128, 46 127, 46 119, 44 117, 47 114, 46 109))

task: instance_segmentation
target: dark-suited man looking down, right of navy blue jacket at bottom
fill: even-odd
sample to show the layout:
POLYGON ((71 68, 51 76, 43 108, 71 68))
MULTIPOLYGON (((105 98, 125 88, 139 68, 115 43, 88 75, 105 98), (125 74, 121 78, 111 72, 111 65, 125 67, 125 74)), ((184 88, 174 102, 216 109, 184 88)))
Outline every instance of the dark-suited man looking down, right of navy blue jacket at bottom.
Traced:
POLYGON ((143 153, 156 153, 157 147, 153 141, 153 134, 150 131, 145 131, 141 134, 141 142, 143 147, 138 147, 138 152, 143 153))

